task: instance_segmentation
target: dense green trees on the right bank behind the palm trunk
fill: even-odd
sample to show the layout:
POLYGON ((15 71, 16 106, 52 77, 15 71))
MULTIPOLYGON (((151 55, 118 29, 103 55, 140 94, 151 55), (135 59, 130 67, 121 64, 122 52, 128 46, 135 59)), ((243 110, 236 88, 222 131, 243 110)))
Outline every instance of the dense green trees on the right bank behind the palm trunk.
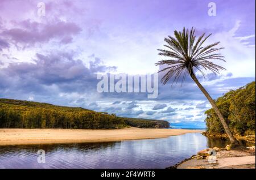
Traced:
MULTIPOLYGON (((255 135, 255 82, 251 82, 236 91, 229 91, 217 99, 216 104, 228 119, 228 125, 234 134, 255 135)), ((224 134, 217 114, 213 109, 205 112, 205 119, 210 134, 224 134)))

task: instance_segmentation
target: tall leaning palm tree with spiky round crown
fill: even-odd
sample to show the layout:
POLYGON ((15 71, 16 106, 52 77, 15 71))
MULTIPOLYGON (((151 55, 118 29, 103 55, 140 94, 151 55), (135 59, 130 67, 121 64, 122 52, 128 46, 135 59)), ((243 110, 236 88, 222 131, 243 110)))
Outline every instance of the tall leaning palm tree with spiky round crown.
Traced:
POLYGON ((170 60, 162 60, 156 63, 158 65, 166 65, 162 71, 167 71, 163 76, 161 82, 166 84, 171 78, 173 80, 172 85, 182 77, 181 83, 184 82, 185 76, 190 75, 194 82, 197 84, 199 89, 204 93, 204 95, 209 100, 212 108, 215 110, 218 118, 225 129, 226 134, 228 134, 231 144, 237 144, 237 140, 234 138, 232 132, 218 109, 215 101, 210 97, 209 93, 205 90, 203 85, 200 84, 199 80, 196 78, 195 70, 198 70, 205 77, 206 74, 202 71, 210 70, 214 74, 219 73, 219 70, 225 70, 224 67, 210 62, 210 60, 221 60, 224 61, 224 56, 218 53, 219 50, 224 48, 216 48, 220 42, 215 42, 207 46, 203 46, 204 42, 211 35, 205 36, 205 33, 196 39, 195 28, 190 31, 183 28, 183 32, 174 31, 175 37, 168 36, 164 38, 167 45, 164 45, 168 50, 158 49, 160 51, 159 55, 164 55, 170 57, 170 60))

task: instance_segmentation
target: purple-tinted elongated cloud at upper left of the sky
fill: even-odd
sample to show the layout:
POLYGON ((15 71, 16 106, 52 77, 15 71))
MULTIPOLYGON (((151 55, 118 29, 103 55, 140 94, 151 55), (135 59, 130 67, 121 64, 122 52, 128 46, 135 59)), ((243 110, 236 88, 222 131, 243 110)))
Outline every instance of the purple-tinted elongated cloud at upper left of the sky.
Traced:
POLYGON ((55 19, 52 22, 38 23, 31 20, 13 22, 14 28, 3 29, 1 36, 8 38, 11 42, 32 46, 36 43, 48 42, 57 39, 61 44, 72 42, 72 36, 77 35, 81 28, 72 22, 63 22, 55 19))

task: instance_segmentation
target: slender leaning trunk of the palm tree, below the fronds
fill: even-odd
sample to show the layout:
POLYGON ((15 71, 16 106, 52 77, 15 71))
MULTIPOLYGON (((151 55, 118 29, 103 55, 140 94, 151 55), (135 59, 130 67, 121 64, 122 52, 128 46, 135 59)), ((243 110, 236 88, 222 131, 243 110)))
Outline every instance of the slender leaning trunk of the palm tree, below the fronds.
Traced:
POLYGON ((212 105, 212 108, 214 109, 214 111, 218 115, 218 118, 220 118, 221 124, 224 127, 224 130, 225 130, 226 134, 229 136, 229 140, 230 140, 231 144, 232 145, 237 145, 238 142, 237 142, 236 138, 234 138, 232 132, 229 130, 228 124, 226 123, 223 115, 221 114, 220 110, 218 109, 215 101, 212 99, 212 97, 210 97, 209 93, 205 90, 203 85, 200 84, 199 80, 197 80, 196 75, 193 72, 191 73, 191 78, 194 80, 194 82, 197 84, 199 89, 207 97, 207 99, 209 100, 210 104, 212 105))

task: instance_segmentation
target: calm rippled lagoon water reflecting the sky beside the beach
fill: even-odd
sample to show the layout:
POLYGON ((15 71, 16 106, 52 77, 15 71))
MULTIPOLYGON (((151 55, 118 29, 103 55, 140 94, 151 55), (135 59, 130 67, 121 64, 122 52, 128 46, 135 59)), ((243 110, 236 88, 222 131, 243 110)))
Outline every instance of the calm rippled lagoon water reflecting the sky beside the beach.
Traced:
POLYGON ((0 147, 0 168, 167 168, 208 147, 225 147, 223 139, 200 133, 112 143, 16 145, 0 147), (37 161, 46 151, 46 163, 37 161))

